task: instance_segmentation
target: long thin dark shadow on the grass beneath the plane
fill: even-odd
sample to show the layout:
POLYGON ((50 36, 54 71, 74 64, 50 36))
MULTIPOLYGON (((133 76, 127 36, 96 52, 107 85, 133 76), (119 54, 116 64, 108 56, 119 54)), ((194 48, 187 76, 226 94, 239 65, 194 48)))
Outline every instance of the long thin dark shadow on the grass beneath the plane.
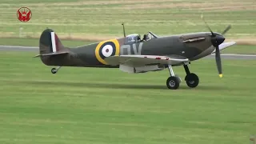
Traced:
MULTIPOLYGON (((77 86, 89 88, 109 88, 109 89, 155 89, 155 90, 169 90, 165 83, 162 85, 136 85, 136 84, 118 84, 118 83, 96 83, 96 82, 33 82, 27 81, 26 83, 33 85, 54 85, 54 86, 77 86)), ((180 86, 181 90, 193 90, 192 88, 183 85, 180 86)), ((222 86, 198 86, 194 90, 225 90, 222 86)))

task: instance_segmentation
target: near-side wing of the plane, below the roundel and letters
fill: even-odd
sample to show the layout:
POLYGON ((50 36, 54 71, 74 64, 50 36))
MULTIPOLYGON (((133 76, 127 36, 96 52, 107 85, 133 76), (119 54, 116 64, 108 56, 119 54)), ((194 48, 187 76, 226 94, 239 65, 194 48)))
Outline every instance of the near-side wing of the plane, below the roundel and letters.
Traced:
POLYGON ((176 65, 189 62, 187 58, 171 58, 158 55, 116 55, 104 59, 109 65, 145 66, 150 64, 176 65))

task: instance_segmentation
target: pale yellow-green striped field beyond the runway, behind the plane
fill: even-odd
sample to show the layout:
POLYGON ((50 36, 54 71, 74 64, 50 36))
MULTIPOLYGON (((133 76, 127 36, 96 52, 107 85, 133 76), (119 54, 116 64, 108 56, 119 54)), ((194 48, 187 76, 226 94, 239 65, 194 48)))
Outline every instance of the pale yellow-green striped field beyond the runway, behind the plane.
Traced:
POLYGON ((197 1, 3 1, 0 4, 2 21, 0 35, 15 36, 22 32, 38 37, 46 27, 62 35, 76 37, 113 38, 122 36, 122 22, 126 23, 127 34, 180 34, 208 31, 200 18, 204 14, 206 22, 214 31, 222 32, 231 24, 227 38, 255 38, 256 5, 252 0, 222 2, 197 1), (30 22, 19 22, 16 11, 20 6, 28 6, 33 16, 30 22))

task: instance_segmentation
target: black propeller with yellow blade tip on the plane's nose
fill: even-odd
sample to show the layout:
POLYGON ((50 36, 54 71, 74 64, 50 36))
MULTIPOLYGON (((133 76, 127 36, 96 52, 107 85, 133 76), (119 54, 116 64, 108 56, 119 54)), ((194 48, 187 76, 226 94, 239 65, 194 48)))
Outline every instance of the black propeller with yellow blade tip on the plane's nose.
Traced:
POLYGON ((203 15, 201 15, 201 18, 203 20, 203 22, 205 22, 206 27, 208 28, 208 30, 210 30, 211 33, 211 43, 212 45, 216 48, 215 50, 215 61, 216 61, 216 65, 218 68, 218 75, 220 78, 222 78, 222 59, 221 59, 221 54, 220 54, 220 50, 219 50, 219 45, 222 44, 222 42, 225 41, 225 38, 222 36, 224 34, 226 34, 226 32, 228 30, 230 30, 231 26, 227 26, 225 30, 223 30, 222 34, 214 34, 214 32, 210 29, 210 26, 208 26, 208 24, 206 23, 205 19, 203 18, 203 15))

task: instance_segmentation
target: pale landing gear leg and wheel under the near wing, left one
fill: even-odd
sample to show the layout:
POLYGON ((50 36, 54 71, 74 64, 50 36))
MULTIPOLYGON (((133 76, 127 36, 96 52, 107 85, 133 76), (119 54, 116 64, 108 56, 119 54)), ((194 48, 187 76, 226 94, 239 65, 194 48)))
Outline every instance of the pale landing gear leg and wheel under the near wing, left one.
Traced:
POLYGON ((176 90, 179 87, 179 83, 181 82, 180 78, 174 75, 174 70, 171 65, 168 65, 168 69, 170 72, 170 77, 166 81, 166 86, 171 90, 176 90))

